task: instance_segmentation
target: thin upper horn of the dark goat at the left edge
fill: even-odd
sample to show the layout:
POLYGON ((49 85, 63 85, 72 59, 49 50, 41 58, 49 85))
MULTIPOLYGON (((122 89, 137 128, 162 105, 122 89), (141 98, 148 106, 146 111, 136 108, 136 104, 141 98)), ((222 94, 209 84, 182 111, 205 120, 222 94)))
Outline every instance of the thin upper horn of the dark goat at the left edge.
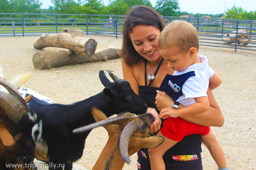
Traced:
POLYGON ((7 81, 0 79, 0 85, 4 86, 4 88, 6 88, 6 90, 8 90, 10 94, 12 94, 18 100, 20 100, 20 102, 26 108, 27 112, 30 112, 26 101, 22 98, 20 92, 18 92, 18 90, 11 83, 8 83, 7 81))

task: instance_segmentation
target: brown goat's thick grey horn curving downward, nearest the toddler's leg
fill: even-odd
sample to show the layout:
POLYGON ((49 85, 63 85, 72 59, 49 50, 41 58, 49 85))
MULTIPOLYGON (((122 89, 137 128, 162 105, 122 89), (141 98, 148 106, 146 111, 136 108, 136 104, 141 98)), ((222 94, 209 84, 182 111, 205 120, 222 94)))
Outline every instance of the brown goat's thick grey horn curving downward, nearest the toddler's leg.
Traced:
POLYGON ((129 122, 123 129, 121 136, 120 136, 120 141, 119 141, 119 149, 122 158, 126 163, 131 163, 130 158, 129 158, 129 153, 128 153, 128 146, 130 142, 130 138, 132 137, 133 133, 137 131, 137 126, 135 122, 129 122))

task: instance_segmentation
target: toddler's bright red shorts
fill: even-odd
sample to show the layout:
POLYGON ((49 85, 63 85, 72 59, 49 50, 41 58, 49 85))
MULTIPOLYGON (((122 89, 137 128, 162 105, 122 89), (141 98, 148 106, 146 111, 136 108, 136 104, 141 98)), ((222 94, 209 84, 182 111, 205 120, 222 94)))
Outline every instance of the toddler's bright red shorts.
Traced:
POLYGON ((180 117, 168 117, 161 129, 162 134, 169 139, 181 141, 185 136, 200 134, 207 135, 210 132, 209 126, 201 126, 181 119, 180 117))

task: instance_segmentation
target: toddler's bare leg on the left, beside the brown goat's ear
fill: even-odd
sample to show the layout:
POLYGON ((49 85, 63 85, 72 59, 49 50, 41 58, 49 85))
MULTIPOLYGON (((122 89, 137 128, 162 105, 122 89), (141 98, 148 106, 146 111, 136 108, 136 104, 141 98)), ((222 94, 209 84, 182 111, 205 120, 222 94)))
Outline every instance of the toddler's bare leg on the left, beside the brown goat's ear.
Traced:
POLYGON ((177 144, 179 141, 174 141, 165 137, 161 131, 159 131, 156 136, 164 137, 164 142, 157 146, 156 148, 149 149, 148 155, 151 164, 151 170, 165 170, 163 155, 170 149, 173 145, 177 144))

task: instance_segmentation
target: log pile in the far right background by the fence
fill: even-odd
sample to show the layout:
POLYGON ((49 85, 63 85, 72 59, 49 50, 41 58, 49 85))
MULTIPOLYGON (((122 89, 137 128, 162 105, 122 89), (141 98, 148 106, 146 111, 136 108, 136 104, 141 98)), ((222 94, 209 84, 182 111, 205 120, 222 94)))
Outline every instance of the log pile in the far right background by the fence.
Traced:
MULTIPOLYGON (((239 42, 238 43, 239 45, 247 45, 248 42, 251 42, 250 37, 248 35, 248 31, 246 29, 239 29, 239 30, 237 30, 237 33, 238 33, 237 41, 243 41, 243 42, 239 42), (248 39, 244 39, 244 38, 248 38, 248 39)), ((232 31, 231 33, 228 33, 225 37, 222 37, 221 40, 225 44, 235 43, 234 41, 236 41, 236 31, 232 31), (233 42, 231 42, 231 41, 233 41, 233 42)))

